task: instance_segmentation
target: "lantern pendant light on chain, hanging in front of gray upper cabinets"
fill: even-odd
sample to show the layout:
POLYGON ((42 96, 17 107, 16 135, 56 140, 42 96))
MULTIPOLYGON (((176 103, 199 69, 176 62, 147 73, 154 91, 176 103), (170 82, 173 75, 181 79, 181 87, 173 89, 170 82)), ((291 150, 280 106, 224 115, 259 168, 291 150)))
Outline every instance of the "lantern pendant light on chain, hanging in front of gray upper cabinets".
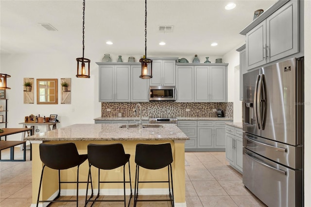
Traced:
POLYGON ((152 60, 147 58, 147 0, 145 0, 145 55, 139 62, 141 62, 139 78, 152 78, 152 60))

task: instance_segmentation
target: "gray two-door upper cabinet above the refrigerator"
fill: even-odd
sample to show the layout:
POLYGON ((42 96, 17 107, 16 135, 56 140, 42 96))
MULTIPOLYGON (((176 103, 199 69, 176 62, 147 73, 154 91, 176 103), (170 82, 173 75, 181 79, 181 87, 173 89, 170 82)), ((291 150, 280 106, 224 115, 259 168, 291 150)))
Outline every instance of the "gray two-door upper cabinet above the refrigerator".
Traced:
POLYGON ((247 69, 299 52, 298 11, 299 1, 291 0, 246 33, 247 69))

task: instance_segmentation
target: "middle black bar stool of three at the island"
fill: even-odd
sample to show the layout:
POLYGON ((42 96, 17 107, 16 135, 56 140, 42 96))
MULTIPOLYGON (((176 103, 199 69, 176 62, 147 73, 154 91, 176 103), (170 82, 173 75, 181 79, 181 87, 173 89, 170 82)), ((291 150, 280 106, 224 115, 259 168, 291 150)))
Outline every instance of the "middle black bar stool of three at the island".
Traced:
MULTIPOLYGON (((87 199, 86 196, 86 203, 92 202, 124 202, 124 207, 126 207, 126 200, 125 200, 125 183, 130 183, 130 199, 128 202, 128 206, 130 205, 131 198, 132 198, 132 183, 131 183, 131 170, 130 170, 130 156, 129 154, 125 154, 123 145, 121 143, 117 144, 88 144, 87 145, 87 156, 89 162, 89 170, 88 176, 91 176, 91 167, 94 166, 98 168, 98 193, 94 200, 91 198, 87 199), (129 180, 125 181, 125 164, 128 163, 128 170, 129 170, 129 180), (123 181, 100 181, 100 170, 112 170, 123 166, 123 181), (99 197, 100 191, 100 183, 123 183, 124 189, 124 199, 123 200, 97 200, 99 197)), ((88 181, 88 179, 87 179, 88 181)), ((88 189, 88 182, 86 185, 86 195, 88 189)), ((92 206, 91 205, 91 206, 92 206)))

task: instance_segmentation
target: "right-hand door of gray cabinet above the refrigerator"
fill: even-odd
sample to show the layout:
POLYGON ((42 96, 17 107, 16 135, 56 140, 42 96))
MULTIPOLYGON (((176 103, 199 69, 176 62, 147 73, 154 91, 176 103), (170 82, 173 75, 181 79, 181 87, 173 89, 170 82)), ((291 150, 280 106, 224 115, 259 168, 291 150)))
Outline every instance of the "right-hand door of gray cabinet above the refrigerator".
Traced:
POLYGON ((267 56, 270 61, 299 52, 298 0, 292 0, 267 18, 267 56))

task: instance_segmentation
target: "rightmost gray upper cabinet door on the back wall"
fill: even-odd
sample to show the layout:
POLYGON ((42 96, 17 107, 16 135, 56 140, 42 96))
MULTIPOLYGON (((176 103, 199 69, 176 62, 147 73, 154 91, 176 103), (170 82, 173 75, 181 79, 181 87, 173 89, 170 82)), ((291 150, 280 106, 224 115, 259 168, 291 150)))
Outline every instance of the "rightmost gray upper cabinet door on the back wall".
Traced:
POLYGON ((209 73, 210 102, 227 101, 227 69, 225 66, 211 66, 209 73))

